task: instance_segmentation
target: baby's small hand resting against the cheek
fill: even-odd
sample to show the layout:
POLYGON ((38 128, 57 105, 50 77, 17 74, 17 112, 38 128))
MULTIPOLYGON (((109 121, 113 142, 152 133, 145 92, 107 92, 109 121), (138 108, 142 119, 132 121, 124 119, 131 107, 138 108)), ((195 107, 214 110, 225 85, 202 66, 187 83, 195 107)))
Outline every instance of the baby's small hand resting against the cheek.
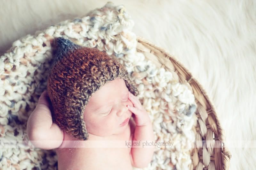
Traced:
POLYGON ((144 126, 151 124, 147 111, 141 105, 140 100, 129 92, 128 99, 132 102, 133 106, 127 105, 128 109, 135 115, 135 123, 137 126, 144 126))

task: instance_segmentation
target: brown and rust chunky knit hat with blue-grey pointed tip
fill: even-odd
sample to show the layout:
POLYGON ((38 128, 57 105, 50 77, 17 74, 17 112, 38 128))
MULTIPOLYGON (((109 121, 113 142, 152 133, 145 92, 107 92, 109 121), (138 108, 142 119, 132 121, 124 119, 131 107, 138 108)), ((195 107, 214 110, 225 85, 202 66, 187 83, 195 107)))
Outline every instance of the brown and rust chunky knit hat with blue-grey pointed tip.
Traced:
POLYGON ((54 59, 47 78, 52 118, 61 129, 78 139, 88 139, 84 109, 101 86, 123 78, 129 91, 135 96, 139 94, 124 66, 105 51, 56 38, 52 54, 54 59))

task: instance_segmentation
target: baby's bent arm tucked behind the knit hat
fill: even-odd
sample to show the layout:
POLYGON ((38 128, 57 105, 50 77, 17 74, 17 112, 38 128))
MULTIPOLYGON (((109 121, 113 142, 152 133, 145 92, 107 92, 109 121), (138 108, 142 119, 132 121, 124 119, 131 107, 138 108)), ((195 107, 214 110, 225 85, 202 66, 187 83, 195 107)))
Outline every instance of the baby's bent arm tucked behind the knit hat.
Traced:
POLYGON ((27 135, 30 142, 37 148, 55 149, 63 141, 63 131, 52 122, 50 103, 44 91, 27 122, 27 135))

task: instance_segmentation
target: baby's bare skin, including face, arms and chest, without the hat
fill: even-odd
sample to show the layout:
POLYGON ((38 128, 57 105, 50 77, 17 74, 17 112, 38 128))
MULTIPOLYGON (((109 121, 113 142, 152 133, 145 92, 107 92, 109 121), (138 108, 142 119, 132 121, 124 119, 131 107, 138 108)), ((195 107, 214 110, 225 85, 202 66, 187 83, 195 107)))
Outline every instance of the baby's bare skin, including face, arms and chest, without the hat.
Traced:
POLYGON ((52 122, 50 104, 44 98, 46 93, 41 95, 28 119, 27 134, 35 147, 56 149, 59 170, 132 169, 132 166, 146 167, 151 161, 154 148, 125 146, 125 141, 154 141, 154 133, 148 113, 129 92, 123 79, 108 82, 91 96, 84 110, 87 141, 77 140, 52 122), (123 141, 123 147, 84 147, 91 141, 108 144, 111 140, 123 141))

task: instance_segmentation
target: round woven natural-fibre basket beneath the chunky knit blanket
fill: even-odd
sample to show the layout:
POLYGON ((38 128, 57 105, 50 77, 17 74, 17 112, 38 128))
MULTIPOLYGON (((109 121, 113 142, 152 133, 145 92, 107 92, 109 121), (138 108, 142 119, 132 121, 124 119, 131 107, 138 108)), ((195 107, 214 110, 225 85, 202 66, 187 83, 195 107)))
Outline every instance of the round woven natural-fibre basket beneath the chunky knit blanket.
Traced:
POLYGON ((196 131, 196 145, 191 152, 192 164, 190 169, 229 169, 231 153, 223 143, 225 140, 224 130, 220 125, 216 109, 202 85, 175 56, 169 54, 165 49, 142 37, 137 37, 137 41, 137 51, 143 53, 157 68, 164 68, 172 72, 173 77, 187 85, 195 95, 197 103, 197 126, 194 129, 196 131), (206 142, 203 144, 203 141, 206 142))

